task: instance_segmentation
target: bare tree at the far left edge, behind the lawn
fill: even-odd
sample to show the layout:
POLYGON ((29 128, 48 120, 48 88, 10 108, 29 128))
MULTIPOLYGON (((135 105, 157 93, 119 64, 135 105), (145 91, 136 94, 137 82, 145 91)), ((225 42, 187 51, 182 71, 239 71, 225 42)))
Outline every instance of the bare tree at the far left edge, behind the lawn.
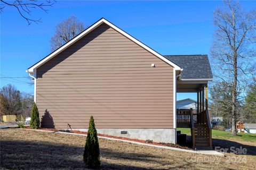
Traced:
POLYGON ((21 111, 21 95, 11 84, 2 87, 0 91, 0 111, 4 115, 19 114, 21 111))

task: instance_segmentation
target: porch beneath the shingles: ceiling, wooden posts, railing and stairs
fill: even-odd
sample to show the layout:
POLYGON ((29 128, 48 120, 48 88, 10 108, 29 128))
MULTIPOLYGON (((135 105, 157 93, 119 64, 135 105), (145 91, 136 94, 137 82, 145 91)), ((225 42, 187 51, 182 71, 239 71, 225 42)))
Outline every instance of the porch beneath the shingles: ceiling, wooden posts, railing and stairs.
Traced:
POLYGON ((190 128, 194 149, 212 149, 212 128, 208 112, 208 80, 178 80, 177 92, 194 93, 195 108, 178 109, 177 128, 190 128))

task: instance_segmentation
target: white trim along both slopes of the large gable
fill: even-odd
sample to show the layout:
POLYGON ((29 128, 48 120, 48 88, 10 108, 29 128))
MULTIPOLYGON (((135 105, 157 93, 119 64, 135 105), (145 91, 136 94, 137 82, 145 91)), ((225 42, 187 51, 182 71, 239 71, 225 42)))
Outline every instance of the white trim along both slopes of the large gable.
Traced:
POLYGON ((94 23, 93 25, 91 25, 91 27, 87 28, 86 30, 84 30, 81 34, 79 34, 78 36, 76 36, 74 39, 70 40, 67 44, 63 45, 62 47, 60 47, 59 49, 55 50, 52 54, 50 54, 49 56, 45 57, 43 60, 39 61, 38 63, 36 63, 35 65, 31 66, 26 72, 29 73, 33 73, 35 71, 35 69, 37 69, 37 67, 41 66, 42 64, 44 64, 45 62, 49 61, 51 58, 53 58, 54 56, 58 55, 60 52, 62 52, 63 50, 65 50, 67 47, 69 47, 70 45, 74 44, 77 40, 81 39, 82 37, 84 37, 87 33, 91 32, 93 29, 97 28, 100 24, 102 23, 106 23, 109 25, 109 27, 115 29, 117 32, 121 33, 123 36, 125 36, 126 38, 129 38, 130 40, 132 40, 134 43, 138 44, 139 46, 141 46, 142 48, 145 48, 146 50, 148 50, 148 52, 154 54, 155 56, 157 56, 158 58, 160 58, 161 60, 163 60, 164 62, 166 62, 167 64, 171 65, 174 67, 175 70, 180 70, 181 68, 172 63, 171 61, 167 60, 164 56, 162 56, 161 54, 155 52, 153 49, 149 48, 148 46, 146 46, 145 44, 141 43, 139 40, 135 39, 134 37, 130 36, 128 33, 126 33, 125 31, 119 29, 118 27, 116 27, 114 24, 110 23, 109 21, 107 21, 106 19, 102 18, 99 21, 97 21, 96 23, 94 23))

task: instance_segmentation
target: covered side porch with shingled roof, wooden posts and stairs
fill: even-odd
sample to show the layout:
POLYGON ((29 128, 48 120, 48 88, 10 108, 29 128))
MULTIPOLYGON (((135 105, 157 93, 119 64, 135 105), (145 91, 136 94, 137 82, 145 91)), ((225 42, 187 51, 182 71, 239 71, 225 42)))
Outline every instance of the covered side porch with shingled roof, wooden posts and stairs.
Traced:
POLYGON ((175 72, 176 91, 197 95, 196 108, 176 108, 175 127, 191 129, 194 149, 212 149, 207 84, 213 80, 213 76, 208 56, 167 55, 165 57, 181 67, 180 71, 175 72))

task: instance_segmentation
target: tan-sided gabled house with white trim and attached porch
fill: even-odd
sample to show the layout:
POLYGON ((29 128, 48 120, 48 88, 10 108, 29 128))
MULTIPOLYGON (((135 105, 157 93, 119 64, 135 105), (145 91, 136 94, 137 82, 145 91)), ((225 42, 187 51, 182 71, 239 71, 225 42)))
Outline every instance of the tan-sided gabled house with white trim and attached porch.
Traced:
POLYGON ((205 127, 197 147, 211 147, 207 55, 163 56, 102 18, 27 72, 43 127, 87 131, 93 115, 98 133, 167 143, 191 124, 177 121, 176 93, 197 92, 190 128, 205 127))

